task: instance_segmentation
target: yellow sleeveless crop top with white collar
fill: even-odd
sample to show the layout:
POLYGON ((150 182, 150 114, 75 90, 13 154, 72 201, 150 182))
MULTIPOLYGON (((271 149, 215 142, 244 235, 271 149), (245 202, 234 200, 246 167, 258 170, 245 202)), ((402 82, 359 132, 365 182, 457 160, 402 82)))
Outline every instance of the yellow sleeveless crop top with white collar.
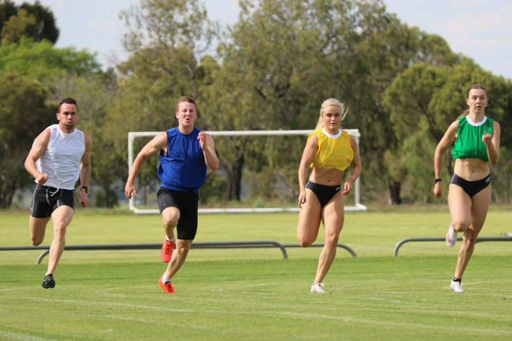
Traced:
POLYGON ((352 164, 354 151, 347 131, 339 129, 336 135, 331 135, 325 128, 318 129, 309 134, 308 141, 314 134, 318 136, 318 150, 309 167, 317 166, 344 171, 352 164))

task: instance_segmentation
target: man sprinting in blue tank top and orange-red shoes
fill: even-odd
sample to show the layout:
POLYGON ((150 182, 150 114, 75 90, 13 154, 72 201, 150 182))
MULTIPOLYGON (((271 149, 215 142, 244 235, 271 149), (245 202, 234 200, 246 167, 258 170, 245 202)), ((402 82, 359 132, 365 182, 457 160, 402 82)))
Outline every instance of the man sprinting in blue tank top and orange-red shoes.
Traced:
POLYGON ((158 284, 166 293, 176 293, 172 278, 185 262, 190 245, 197 232, 199 188, 206 179, 206 167, 219 168, 211 135, 194 127, 197 118, 196 102, 180 97, 176 104, 178 127, 162 132, 139 152, 124 187, 124 194, 137 195, 135 177, 148 157, 160 152, 158 177, 162 186, 158 191, 158 207, 162 214, 165 241, 161 256, 167 269, 158 284), (176 228, 177 237, 174 235, 176 228), (173 248, 176 243, 176 251, 173 248))

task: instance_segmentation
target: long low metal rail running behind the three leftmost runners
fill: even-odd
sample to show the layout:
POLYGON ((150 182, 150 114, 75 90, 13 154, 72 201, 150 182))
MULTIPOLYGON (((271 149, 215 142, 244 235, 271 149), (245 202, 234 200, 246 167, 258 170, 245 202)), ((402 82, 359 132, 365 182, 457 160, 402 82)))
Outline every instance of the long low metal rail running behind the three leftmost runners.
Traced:
MULTIPOLYGON (((287 259, 285 247, 300 247, 299 244, 281 244, 274 240, 242 240, 242 241, 210 241, 193 242, 190 248, 252 248, 252 247, 279 247, 283 253, 283 258, 287 259)), ((313 247, 324 246, 323 243, 311 244, 313 247)), ((357 257, 355 252, 344 244, 337 244, 338 247, 346 249, 353 257, 357 257)), ((82 244, 66 245, 65 250, 132 250, 132 249, 159 249, 162 243, 136 243, 136 244, 82 244)), ((16 250, 44 250, 36 260, 39 264, 41 260, 50 253, 50 246, 0 246, 0 251, 16 250)))

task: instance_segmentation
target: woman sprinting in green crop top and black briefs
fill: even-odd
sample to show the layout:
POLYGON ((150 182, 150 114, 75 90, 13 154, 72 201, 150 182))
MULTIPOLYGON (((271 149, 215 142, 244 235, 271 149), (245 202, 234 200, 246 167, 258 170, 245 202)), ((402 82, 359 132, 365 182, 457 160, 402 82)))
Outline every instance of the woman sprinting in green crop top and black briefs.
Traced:
POLYGON ((442 158, 444 152, 453 146, 455 167, 448 188, 448 206, 452 216, 452 224, 446 234, 448 246, 455 245, 457 232, 463 233, 450 284, 455 292, 464 292, 462 275, 487 216, 491 194, 489 162, 496 165, 500 158, 500 125, 485 116, 488 101, 487 89, 483 85, 474 84, 467 90, 469 109, 448 127, 434 156, 434 195, 438 198, 442 194, 442 158), (487 127, 483 129, 486 122, 487 127))

